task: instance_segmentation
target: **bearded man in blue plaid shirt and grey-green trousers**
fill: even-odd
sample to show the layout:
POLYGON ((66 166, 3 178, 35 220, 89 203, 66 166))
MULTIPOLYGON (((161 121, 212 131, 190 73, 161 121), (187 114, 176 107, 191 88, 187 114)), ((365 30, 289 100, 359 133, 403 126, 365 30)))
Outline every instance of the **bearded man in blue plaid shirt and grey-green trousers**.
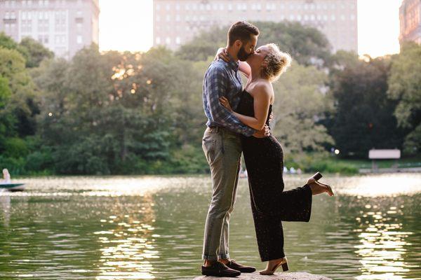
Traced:
POLYGON ((254 52, 259 29, 248 22, 236 22, 229 28, 227 53, 231 60, 218 59, 208 67, 203 78, 203 109, 208 122, 202 148, 210 166, 213 193, 206 217, 203 240, 203 275, 239 276, 255 272, 255 267, 240 265, 229 258, 229 216, 234 209, 241 160, 240 134, 265 137, 261 131, 243 125, 220 104, 226 97, 236 109, 242 92, 239 60, 246 61, 254 52))

